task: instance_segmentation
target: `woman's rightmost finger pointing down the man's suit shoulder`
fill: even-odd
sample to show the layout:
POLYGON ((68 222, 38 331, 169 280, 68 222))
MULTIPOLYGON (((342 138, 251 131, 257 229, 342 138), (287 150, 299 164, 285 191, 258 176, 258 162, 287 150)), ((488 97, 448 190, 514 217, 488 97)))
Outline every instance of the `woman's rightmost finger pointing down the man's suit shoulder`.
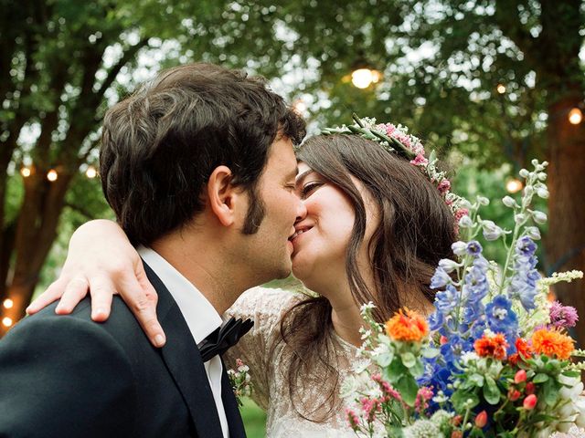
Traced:
MULTIPOLYGON (((142 266, 141 266, 142 267, 142 266)), ((128 276, 120 293, 132 310, 144 333, 156 348, 165 345, 166 337, 156 317, 158 296, 154 287, 148 282, 144 270, 140 269, 135 276, 128 276)))

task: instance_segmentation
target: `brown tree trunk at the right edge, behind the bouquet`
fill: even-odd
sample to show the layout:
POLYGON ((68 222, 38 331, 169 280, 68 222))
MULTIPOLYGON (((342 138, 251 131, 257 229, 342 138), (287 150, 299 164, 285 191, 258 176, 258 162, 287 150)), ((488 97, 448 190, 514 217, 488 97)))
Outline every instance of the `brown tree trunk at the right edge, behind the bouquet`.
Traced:
MULTIPOLYGON (((569 110, 582 97, 561 99, 548 109, 548 257, 553 271, 585 271, 585 122, 569 123, 569 110)), ((577 308, 581 320, 575 332, 585 347, 585 281, 555 286, 558 300, 577 308)))

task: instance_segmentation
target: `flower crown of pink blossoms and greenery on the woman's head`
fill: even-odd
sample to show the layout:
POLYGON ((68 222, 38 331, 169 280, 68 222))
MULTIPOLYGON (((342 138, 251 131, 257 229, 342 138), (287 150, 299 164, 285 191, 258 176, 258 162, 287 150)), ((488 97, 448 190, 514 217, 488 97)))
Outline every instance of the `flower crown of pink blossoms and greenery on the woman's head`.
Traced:
POLYGON ((429 158, 426 158, 420 139, 409 134, 409 129, 406 126, 396 126, 392 123, 376 123, 376 119, 371 118, 360 119, 355 113, 352 117, 355 121, 354 124, 324 128, 321 133, 324 135, 359 135, 367 140, 377 141, 386 151, 397 153, 411 164, 417 166, 431 183, 437 186, 439 193, 441 193, 445 203, 451 209, 457 222, 468 213, 467 209, 463 208, 466 203, 465 199, 451 192, 451 182, 445 177, 445 172, 437 169, 439 160, 435 151, 431 151, 429 158))

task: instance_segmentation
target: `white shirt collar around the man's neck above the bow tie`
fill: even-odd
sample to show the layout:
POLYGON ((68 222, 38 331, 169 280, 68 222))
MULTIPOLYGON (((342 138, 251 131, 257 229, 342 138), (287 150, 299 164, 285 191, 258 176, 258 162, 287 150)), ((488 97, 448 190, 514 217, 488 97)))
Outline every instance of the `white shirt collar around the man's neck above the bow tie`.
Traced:
POLYGON ((197 344, 221 326, 222 319, 218 311, 211 306, 211 303, 199 292, 197 287, 174 266, 151 248, 140 245, 136 249, 138 254, 143 257, 144 262, 161 279, 171 296, 175 298, 176 304, 186 320, 186 325, 197 344))

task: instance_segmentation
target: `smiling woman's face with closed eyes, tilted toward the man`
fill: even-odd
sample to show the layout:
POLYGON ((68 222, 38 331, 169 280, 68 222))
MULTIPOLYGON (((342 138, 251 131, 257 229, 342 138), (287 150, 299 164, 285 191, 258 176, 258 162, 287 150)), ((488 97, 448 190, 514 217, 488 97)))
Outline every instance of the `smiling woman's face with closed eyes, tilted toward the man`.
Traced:
MULTIPOLYGON (((368 226, 364 244, 367 244, 376 227, 376 221, 371 220, 372 203, 368 202, 370 196, 362 185, 353 177, 352 180, 366 203, 368 226)), ((346 194, 304 162, 299 162, 296 190, 307 215, 295 224, 293 274, 306 287, 321 293, 324 287, 346 279, 346 248, 356 215, 346 194)), ((364 244, 362 249, 367 247, 364 244)), ((358 263, 360 257, 367 263, 367 251, 360 251, 358 263)))

